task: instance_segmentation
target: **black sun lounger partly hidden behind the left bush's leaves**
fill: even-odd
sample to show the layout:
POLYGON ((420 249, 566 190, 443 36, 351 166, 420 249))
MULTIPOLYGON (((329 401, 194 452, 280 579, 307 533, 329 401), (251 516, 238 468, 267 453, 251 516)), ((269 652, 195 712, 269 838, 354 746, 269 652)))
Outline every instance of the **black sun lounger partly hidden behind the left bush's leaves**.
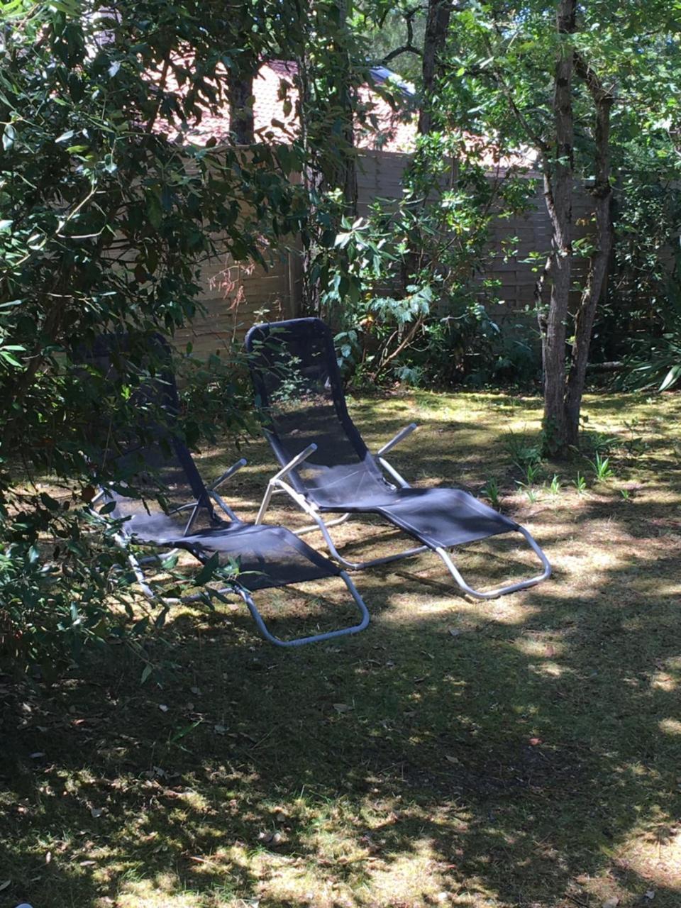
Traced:
MULTIPOLYGON (((84 367, 99 370, 110 380, 115 380, 116 363, 127 355, 126 337, 106 335, 94 343, 92 350, 81 354, 84 367)), ((144 568, 159 558, 138 558, 134 546, 163 550, 163 558, 184 549, 205 564, 217 555, 221 567, 232 568, 238 573, 219 592, 231 592, 242 597, 251 611, 262 636, 277 646, 301 646, 331 637, 356 634, 369 624, 369 613, 350 577, 328 558, 306 545, 283 527, 242 523, 218 493, 218 488, 237 469, 245 465, 239 460, 212 485, 206 487, 189 450, 179 435, 173 432, 179 412, 179 400, 173 373, 170 370, 170 350, 160 335, 150 341, 154 359, 163 363, 163 371, 153 379, 143 375, 130 405, 136 408, 140 420, 146 420, 143 433, 128 433, 123 445, 117 446, 115 457, 119 466, 130 478, 129 486, 116 485, 116 489, 102 489, 98 498, 114 502, 110 518, 122 520, 117 542, 128 553, 140 587, 145 596, 159 597, 150 586, 144 568), (163 416, 163 419, 159 419, 163 416), (127 488, 131 494, 126 495, 127 488), (134 489, 134 494, 132 492, 134 489), (267 587, 286 587, 326 577, 341 577, 360 611, 360 623, 339 630, 281 640, 266 627, 253 602, 252 594, 267 587)), ((119 363, 120 367, 120 363, 119 363)), ((132 364, 127 363, 127 370, 132 364)), ((134 367, 132 367, 134 368, 134 367)), ((143 369, 141 370, 143 372, 143 369)), ((228 575, 228 571, 225 571, 228 575)), ((210 587, 202 593, 185 597, 191 601, 210 595, 210 587)))

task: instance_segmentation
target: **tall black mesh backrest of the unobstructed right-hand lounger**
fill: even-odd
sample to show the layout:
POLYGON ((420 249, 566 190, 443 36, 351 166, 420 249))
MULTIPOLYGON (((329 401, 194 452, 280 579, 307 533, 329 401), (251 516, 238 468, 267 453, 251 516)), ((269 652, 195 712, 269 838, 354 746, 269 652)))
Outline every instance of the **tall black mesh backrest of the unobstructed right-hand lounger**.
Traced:
POLYGON ((254 325, 246 335, 265 431, 283 465, 311 442, 318 447, 291 473, 317 504, 348 502, 387 489, 350 419, 331 331, 320 319, 254 325))

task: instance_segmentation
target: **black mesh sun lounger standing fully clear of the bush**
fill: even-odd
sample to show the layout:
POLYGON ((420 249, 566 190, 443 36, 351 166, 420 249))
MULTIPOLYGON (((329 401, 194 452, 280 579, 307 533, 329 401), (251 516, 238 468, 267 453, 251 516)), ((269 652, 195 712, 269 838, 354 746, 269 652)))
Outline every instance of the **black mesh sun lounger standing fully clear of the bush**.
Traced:
POLYGON ((284 491, 314 520, 299 534, 321 531, 331 556, 348 568, 369 568, 431 549, 459 587, 481 599, 531 587, 550 576, 548 558, 526 528, 461 489, 413 489, 390 466, 385 455, 417 428, 415 423, 384 445, 376 458, 371 455, 348 414, 331 331, 323 321, 254 325, 245 342, 267 438, 282 468, 270 480, 256 523, 272 494, 284 491), (365 562, 343 558, 329 528, 352 514, 366 513, 389 520, 419 546, 365 562), (327 514, 341 517, 325 522, 327 514), (541 562, 541 574, 488 591, 469 587, 449 550, 511 532, 527 540, 541 562))

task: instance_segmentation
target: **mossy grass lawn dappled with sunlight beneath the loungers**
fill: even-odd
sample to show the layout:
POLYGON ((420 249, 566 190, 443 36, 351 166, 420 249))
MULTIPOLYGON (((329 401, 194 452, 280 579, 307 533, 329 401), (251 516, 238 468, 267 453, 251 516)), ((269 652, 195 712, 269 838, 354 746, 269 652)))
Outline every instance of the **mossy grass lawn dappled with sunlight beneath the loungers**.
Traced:
MULTIPOLYGON (((0 676, 0 908, 681 905, 681 395, 588 397, 614 478, 576 459, 529 490, 508 431, 536 439, 536 398, 350 410, 374 449, 420 423, 391 457, 415 483, 496 479, 554 577, 472 601, 424 555, 355 575, 371 624, 332 645, 278 650, 242 606, 178 608, 148 645, 160 683, 124 646, 47 692, 0 676)), ((225 497, 252 516, 273 464, 259 440, 240 453, 225 497)), ((339 530, 352 551, 405 542, 339 530)), ((458 563, 492 585, 531 557, 498 539, 458 563)), ((260 601, 285 636, 348 617, 341 593, 260 601)))

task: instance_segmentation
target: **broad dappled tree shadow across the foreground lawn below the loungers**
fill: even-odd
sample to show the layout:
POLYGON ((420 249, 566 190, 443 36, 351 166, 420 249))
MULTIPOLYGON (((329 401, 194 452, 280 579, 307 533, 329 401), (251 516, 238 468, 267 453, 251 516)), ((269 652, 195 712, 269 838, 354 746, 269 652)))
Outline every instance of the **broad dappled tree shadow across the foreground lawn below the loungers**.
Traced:
POLYGON ((677 904, 674 608, 653 590, 617 602, 617 569, 598 584, 601 597, 552 585, 511 608, 445 606, 386 571, 368 632, 296 653, 261 645, 241 612, 200 632, 177 617, 183 671, 163 687, 140 687, 122 656, 99 666, 95 696, 73 682, 25 700, 24 727, 5 720, 7 893, 677 904), (393 605, 404 597, 416 607, 393 605))

